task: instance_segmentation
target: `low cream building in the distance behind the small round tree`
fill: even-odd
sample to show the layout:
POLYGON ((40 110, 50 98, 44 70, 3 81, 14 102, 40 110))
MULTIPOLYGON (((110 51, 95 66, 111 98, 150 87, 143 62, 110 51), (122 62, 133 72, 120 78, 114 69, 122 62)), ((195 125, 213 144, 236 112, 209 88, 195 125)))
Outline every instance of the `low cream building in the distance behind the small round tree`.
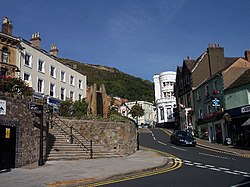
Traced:
MULTIPOLYGON (((126 105, 129 108, 129 110, 134 106, 138 104, 142 107, 144 110, 144 115, 138 118, 138 125, 150 125, 151 127, 154 126, 154 123, 156 121, 155 119, 155 110, 153 103, 147 102, 147 101, 134 101, 134 102, 127 102, 126 105)), ((131 115, 128 115, 129 118, 133 119, 131 115)), ((137 119, 134 119, 137 121, 137 119)))

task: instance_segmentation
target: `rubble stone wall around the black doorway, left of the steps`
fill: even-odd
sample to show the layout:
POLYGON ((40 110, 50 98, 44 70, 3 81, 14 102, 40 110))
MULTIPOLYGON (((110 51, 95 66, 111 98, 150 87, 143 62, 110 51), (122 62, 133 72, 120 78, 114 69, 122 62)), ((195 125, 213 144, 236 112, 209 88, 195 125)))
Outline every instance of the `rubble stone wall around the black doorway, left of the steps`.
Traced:
POLYGON ((40 120, 28 108, 31 97, 0 94, 0 99, 6 101, 6 115, 0 115, 0 125, 6 126, 12 123, 16 126, 15 167, 37 162, 40 148, 40 120))

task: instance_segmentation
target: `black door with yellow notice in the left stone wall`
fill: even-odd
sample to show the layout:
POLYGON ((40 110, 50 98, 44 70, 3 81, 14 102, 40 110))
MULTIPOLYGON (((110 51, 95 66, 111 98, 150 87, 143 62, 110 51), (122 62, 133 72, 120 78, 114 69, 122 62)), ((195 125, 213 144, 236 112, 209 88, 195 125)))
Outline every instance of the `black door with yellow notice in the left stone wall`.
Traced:
POLYGON ((0 125, 0 170, 15 168, 16 127, 0 125))

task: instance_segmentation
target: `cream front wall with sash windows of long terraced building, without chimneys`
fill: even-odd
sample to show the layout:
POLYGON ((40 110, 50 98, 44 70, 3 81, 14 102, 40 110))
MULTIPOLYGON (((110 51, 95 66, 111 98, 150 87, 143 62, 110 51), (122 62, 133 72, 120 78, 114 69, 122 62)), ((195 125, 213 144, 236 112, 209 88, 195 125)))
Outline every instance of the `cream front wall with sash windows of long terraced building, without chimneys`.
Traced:
MULTIPOLYGON (((86 76, 67 67, 46 51, 21 40, 19 50, 20 78, 33 88, 38 97, 55 100, 86 98, 86 76)), ((55 46, 53 46, 55 47, 55 46)), ((49 103, 50 104, 50 103, 49 103)))

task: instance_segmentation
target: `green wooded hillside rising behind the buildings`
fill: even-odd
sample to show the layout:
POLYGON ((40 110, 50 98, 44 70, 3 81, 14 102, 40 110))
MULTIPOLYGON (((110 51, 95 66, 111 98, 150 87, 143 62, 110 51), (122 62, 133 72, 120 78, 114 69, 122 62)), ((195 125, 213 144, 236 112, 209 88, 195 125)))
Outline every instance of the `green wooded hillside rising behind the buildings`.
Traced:
POLYGON ((88 85, 104 84, 108 95, 127 98, 129 101, 152 102, 154 100, 154 85, 148 80, 136 78, 116 68, 80 63, 65 58, 58 60, 86 75, 88 85))

